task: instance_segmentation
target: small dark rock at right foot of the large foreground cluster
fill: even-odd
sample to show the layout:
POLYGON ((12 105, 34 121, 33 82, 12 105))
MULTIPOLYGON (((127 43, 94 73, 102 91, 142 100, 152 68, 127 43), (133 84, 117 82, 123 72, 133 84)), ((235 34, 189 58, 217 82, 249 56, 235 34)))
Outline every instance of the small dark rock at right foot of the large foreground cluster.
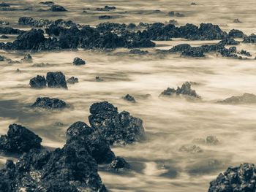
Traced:
POLYGON ((108 166, 110 172, 125 172, 130 169, 130 165, 124 158, 116 157, 108 166))

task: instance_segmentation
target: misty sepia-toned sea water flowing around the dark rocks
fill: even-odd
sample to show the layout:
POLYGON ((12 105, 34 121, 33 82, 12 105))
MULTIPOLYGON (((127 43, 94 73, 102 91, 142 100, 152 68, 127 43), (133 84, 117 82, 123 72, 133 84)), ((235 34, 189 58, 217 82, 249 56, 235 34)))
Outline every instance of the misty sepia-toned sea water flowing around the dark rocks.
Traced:
MULTIPOLYGON (((184 18, 174 18, 179 24, 214 23, 225 31, 240 29, 249 35, 256 32, 256 1, 55 1, 69 12, 37 12, 38 1, 6 1, 15 7, 32 6, 32 11, 0 12, 0 20, 8 20, 18 26, 18 18, 63 18, 76 23, 96 26, 102 22, 99 15, 114 15, 117 23, 153 23, 170 19, 169 11, 184 13, 184 18), (116 6, 113 12, 83 13, 84 7, 116 6), (155 12, 156 9, 162 12, 155 12), (243 23, 233 23, 239 18, 243 23)), ((103 20, 104 21, 104 20, 103 20)), ((24 28, 24 27, 22 27, 24 28)), ((28 28, 29 29, 29 28, 28 28)), ((15 36, 13 36, 15 39, 15 36)), ((12 40, 12 39, 9 39, 12 40)), ((154 49, 169 49, 187 42, 173 39, 157 42, 154 49)), ((206 42, 189 42, 203 45, 206 42)), ((208 42, 213 43, 213 42, 208 42)), ((238 51, 246 49, 256 55, 256 45, 238 45, 238 51)), ((179 55, 129 55, 125 49, 113 52, 97 50, 61 51, 56 53, 32 53, 32 64, 0 64, 0 134, 6 134, 11 123, 20 123, 42 137, 45 147, 62 147, 65 131, 75 121, 89 123, 89 107, 97 101, 109 101, 118 110, 129 111, 143 120, 146 141, 125 147, 113 147, 118 156, 132 165, 129 174, 110 174, 100 171, 103 183, 110 191, 195 191, 208 190, 208 183, 228 166, 256 163, 256 107, 254 104, 223 105, 216 101, 243 93, 256 94, 256 60, 233 60, 215 54, 206 58, 180 58, 179 55), (85 66, 72 65, 73 58, 86 60, 85 66), (34 64, 48 64, 36 67, 34 64), (17 72, 20 69, 20 72, 17 72), (78 77, 79 83, 68 85, 68 90, 34 90, 29 80, 37 74, 63 72, 67 78, 78 77), (95 77, 104 81, 97 82, 95 77), (192 88, 202 97, 201 101, 184 98, 159 98, 167 87, 176 88, 183 82, 197 82, 192 88), (129 104, 121 99, 129 93, 136 99, 129 104), (143 95, 150 94, 145 99, 143 95), (34 110, 29 106, 38 96, 56 97, 67 101, 67 110, 49 112, 34 110), (59 126, 56 122, 64 125, 59 126), (216 136, 219 145, 196 142, 216 136), (197 145, 202 153, 186 153, 183 145, 197 145)), ((7 53, 12 60, 20 60, 24 53, 7 53)), ((0 158, 4 164, 8 156, 0 158)), ((11 157, 13 158, 13 157, 11 157)), ((100 169, 100 168, 99 168, 100 169)), ((101 169, 100 169, 101 170, 101 169)))

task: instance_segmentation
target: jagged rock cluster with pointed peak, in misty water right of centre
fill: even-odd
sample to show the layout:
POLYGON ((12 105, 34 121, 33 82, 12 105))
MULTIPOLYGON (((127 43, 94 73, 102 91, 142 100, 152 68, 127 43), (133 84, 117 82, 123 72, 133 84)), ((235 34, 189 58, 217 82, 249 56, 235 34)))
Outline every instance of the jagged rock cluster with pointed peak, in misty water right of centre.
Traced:
POLYGON ((200 98, 200 96, 197 95, 195 90, 191 88, 191 84, 189 82, 185 82, 183 85, 181 85, 181 88, 167 88, 165 91, 163 91, 160 96, 189 96, 192 98, 200 98))

